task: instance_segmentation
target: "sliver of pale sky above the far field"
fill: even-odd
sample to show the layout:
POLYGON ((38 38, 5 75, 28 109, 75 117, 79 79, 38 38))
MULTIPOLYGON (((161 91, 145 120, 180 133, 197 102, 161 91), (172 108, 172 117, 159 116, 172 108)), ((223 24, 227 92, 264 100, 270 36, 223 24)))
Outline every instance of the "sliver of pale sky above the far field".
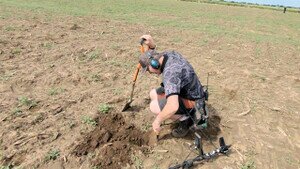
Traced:
POLYGON ((268 5, 283 5, 300 8, 300 0, 226 0, 235 2, 248 2, 268 5))

